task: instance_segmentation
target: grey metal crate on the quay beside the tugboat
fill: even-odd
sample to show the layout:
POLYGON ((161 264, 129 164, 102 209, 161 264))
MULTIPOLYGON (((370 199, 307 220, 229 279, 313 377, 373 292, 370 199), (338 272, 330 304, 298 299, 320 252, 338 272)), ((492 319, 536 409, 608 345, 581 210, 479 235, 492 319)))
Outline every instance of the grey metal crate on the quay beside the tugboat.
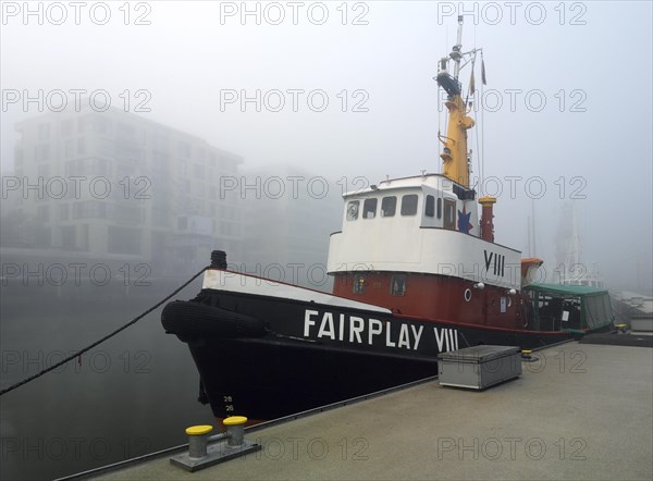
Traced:
POLYGON ((441 385, 484 390, 521 374, 515 346, 472 346, 438 355, 441 385))

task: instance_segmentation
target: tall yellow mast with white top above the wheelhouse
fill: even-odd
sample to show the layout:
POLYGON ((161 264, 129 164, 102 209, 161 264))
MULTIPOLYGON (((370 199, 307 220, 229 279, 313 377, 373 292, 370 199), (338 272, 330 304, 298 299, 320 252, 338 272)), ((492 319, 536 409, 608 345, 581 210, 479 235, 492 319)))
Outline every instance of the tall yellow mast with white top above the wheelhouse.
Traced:
MULTIPOLYGON (((440 141, 444 144, 443 152, 440 155, 443 161, 443 174, 454 182, 469 188, 469 160, 467 153, 467 131, 475 124, 473 119, 467 115, 468 107, 463 101, 463 88, 458 82, 460 73, 460 60, 464 55, 476 54, 478 50, 463 53, 463 15, 458 16, 458 35, 456 45, 448 57, 440 60, 440 71, 435 81, 447 92, 448 130, 446 137, 438 134, 440 141), (454 75, 447 71, 449 60, 454 62, 454 75)), ((472 72, 473 82, 473 72, 472 72)), ((473 87, 470 88, 473 95, 473 87)))

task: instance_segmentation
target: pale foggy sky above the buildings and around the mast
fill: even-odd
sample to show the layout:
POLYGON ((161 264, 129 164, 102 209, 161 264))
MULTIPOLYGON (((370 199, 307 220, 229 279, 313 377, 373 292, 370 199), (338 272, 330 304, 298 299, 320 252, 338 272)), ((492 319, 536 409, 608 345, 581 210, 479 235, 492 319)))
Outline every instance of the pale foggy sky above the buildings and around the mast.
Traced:
MULTIPOLYGON (((78 12, 45 3, 42 17, 37 7, 25 16, 22 4, 8 3, 3 175, 15 172, 14 124, 61 103, 49 92, 66 92, 70 108, 71 91, 86 90, 85 104, 101 89, 112 107, 241 156, 239 172, 274 175, 292 165, 307 178, 329 178, 332 194, 342 193, 338 180, 440 171, 444 113, 432 77, 464 11, 464 50, 483 48, 488 77, 486 106, 470 137, 472 177, 482 158, 485 183, 477 188, 498 197, 497 242, 553 267, 562 205, 574 200, 583 262, 599 263, 613 288, 651 287, 648 269, 636 271, 651 266, 646 2, 149 2, 78 12), (44 104, 26 100, 39 90, 44 104), (242 102, 257 90, 258 106, 242 102), (529 252, 533 210, 537 251, 529 252)), ((478 65, 476 75, 480 84, 478 65)), ((465 87, 468 78, 469 66, 460 75, 465 87)), ((254 193, 238 197, 251 200, 254 193)))

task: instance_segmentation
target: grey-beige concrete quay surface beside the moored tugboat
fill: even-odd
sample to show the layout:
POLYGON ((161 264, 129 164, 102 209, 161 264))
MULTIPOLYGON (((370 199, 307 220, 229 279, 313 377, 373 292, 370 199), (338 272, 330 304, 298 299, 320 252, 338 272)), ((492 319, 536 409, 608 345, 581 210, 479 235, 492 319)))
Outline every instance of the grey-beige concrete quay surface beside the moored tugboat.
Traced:
POLYGON ((653 349, 574 342, 533 356, 486 391, 430 381, 247 430, 262 451, 194 473, 168 453, 91 478, 652 479, 653 349))

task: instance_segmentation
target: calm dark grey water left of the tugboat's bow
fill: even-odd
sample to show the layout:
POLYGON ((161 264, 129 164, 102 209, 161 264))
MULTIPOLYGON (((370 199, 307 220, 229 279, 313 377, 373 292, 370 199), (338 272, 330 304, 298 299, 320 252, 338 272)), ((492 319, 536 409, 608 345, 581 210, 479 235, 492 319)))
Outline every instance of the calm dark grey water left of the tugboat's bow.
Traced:
MULTIPOLYGON (((5 291, 2 387, 124 324, 174 284, 159 287, 122 299, 65 303, 39 303, 48 296, 36 286, 17 298, 5 291)), ((178 297, 197 291, 195 282, 178 297)), ((198 379, 185 345, 164 333, 159 309, 81 359, 0 398, 0 478, 51 479, 185 443, 186 427, 214 424, 210 408, 197 402, 198 379)))

